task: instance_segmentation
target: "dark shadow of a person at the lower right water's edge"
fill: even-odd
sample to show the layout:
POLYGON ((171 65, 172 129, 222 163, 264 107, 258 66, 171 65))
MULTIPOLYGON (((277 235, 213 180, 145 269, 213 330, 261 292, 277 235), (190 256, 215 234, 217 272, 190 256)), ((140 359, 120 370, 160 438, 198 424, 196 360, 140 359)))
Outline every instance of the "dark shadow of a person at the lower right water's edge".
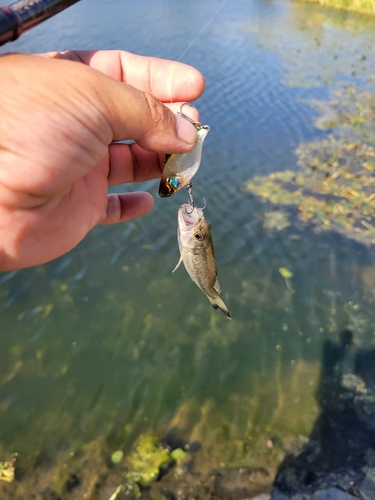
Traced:
POLYGON ((308 443, 281 463, 273 496, 337 487, 375 497, 374 390, 375 349, 355 351, 349 329, 338 342, 326 340, 316 392, 320 415, 308 443))

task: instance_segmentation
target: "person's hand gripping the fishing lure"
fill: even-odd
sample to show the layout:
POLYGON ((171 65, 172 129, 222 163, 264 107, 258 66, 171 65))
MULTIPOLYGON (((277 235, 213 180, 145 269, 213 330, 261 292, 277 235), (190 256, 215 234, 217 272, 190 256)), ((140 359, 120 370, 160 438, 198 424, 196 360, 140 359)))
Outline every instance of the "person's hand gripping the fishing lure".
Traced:
POLYGON ((48 262, 97 224, 148 212, 150 194, 108 186, 160 177, 158 153, 195 145, 193 125, 160 102, 177 111, 203 92, 187 65, 69 51, 4 55, 0 74, 0 271, 48 262), (124 139, 136 143, 111 144, 124 139))

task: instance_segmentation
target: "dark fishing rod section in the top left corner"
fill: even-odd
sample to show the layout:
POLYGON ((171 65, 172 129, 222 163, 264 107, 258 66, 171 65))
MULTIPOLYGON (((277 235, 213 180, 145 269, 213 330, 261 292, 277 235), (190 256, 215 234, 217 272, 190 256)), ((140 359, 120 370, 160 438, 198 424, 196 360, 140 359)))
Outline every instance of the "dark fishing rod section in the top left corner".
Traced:
POLYGON ((79 0, 18 0, 0 7, 0 45, 17 40, 25 31, 79 0))

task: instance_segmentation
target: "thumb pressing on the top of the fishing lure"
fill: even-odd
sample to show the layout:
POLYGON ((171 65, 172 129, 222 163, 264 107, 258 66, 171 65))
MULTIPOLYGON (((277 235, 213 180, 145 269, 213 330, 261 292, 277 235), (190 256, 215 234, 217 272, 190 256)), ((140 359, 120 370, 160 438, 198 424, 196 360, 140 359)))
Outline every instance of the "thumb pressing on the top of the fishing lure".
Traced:
POLYGON ((30 68, 38 77, 39 94, 43 90, 64 109, 74 107, 74 116, 107 145, 132 139, 149 151, 185 153, 197 142, 195 127, 149 93, 74 61, 24 55, 9 59, 15 57, 18 70, 30 68))

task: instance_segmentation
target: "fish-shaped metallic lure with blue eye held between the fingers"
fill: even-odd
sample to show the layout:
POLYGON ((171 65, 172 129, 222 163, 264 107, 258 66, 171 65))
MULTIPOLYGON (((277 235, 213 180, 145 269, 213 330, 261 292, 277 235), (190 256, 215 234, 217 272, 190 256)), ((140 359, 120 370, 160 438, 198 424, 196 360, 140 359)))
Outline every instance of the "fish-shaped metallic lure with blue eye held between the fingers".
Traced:
POLYGON ((159 196, 166 198, 187 186, 197 173, 202 160, 203 141, 210 127, 208 125, 195 125, 198 134, 196 146, 184 154, 166 155, 164 170, 159 185, 159 196))

